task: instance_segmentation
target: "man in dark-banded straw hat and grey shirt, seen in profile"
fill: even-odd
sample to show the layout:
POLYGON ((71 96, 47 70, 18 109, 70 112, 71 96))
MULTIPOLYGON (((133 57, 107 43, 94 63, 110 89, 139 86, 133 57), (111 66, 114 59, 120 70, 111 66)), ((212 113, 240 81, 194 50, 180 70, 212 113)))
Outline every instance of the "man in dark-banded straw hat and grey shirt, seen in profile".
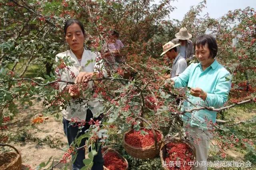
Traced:
MULTIPOLYGON (((187 66, 187 62, 184 59, 184 57, 182 57, 180 55, 180 53, 178 53, 178 49, 177 47, 180 45, 180 43, 178 44, 174 44, 172 42, 168 42, 166 44, 163 45, 163 50, 164 52, 162 52, 161 55, 166 54, 166 56, 172 61, 172 72, 170 76, 165 76, 165 79, 168 78, 172 78, 172 77, 176 77, 178 75, 180 75, 180 73, 182 73, 188 66, 187 66)), ((160 56, 161 56, 160 55, 160 56)))

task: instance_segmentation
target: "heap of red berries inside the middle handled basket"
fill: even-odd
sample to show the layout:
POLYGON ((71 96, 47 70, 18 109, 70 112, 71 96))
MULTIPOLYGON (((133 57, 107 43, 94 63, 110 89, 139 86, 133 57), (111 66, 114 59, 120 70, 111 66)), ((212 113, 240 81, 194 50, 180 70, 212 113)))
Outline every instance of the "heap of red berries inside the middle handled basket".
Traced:
MULTIPOLYGON (((154 140, 154 134, 152 130, 146 129, 146 128, 142 128, 141 130, 148 132, 148 134, 143 135, 141 134, 140 130, 136 131, 133 129, 130 132, 125 134, 126 143, 137 148, 144 148, 146 146, 151 146, 152 144, 154 144, 155 140, 154 140)), ((156 132, 157 141, 160 141, 161 140, 160 132, 158 131, 155 131, 155 132, 156 132)))

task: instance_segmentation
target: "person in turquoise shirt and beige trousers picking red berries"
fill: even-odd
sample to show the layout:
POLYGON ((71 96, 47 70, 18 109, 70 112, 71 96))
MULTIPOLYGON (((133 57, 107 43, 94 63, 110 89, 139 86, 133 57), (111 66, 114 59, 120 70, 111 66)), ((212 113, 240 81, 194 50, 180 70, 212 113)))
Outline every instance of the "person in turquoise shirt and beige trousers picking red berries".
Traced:
MULTIPOLYGON (((177 77, 167 79, 166 88, 190 87, 182 110, 195 107, 220 108, 228 100, 231 88, 230 73, 215 59, 218 52, 216 40, 211 35, 200 35, 195 43, 196 58, 199 63, 192 63, 177 77)), ((207 109, 182 115, 184 128, 191 144, 196 148, 196 161, 207 161, 209 143, 213 138, 212 125, 216 123, 216 112, 207 109)), ((207 167, 195 167, 207 170, 207 167)))

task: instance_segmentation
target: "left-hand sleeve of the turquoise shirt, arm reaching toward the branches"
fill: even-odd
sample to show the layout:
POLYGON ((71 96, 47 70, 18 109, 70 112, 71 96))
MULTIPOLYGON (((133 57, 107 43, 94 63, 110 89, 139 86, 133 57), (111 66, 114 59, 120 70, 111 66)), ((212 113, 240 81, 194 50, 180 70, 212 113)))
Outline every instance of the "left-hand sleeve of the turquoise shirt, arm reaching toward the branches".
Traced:
POLYGON ((189 65, 179 76, 171 78, 175 82, 174 84, 175 88, 186 87, 188 85, 188 79, 189 79, 191 67, 192 67, 192 64, 189 65))

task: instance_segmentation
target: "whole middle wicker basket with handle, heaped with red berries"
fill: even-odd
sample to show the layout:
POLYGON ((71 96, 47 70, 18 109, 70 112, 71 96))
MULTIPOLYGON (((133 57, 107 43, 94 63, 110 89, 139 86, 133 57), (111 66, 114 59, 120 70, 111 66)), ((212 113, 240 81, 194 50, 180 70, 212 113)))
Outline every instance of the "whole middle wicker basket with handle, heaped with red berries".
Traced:
MULTIPOLYGON (((137 117, 136 120, 142 120, 148 126, 150 124, 142 117, 137 117)), ((158 155, 161 143, 163 141, 163 134, 159 130, 154 128, 146 129, 140 128, 136 131, 133 128, 124 134, 124 149, 126 152, 134 158, 147 159, 154 158, 158 155), (141 131, 146 134, 142 134, 141 131)))

